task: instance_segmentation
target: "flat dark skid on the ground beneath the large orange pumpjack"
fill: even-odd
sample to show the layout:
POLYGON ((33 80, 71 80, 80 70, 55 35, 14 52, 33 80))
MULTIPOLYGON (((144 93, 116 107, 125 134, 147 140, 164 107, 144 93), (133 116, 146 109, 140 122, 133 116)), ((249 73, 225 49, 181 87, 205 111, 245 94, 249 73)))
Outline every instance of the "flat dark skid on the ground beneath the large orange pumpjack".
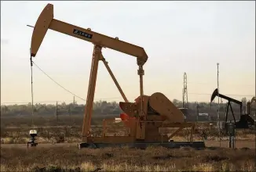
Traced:
POLYGON ((195 149, 204 149, 206 145, 204 142, 133 142, 133 143, 79 143, 79 149, 99 149, 106 147, 122 147, 128 146, 129 148, 146 149, 148 146, 162 146, 169 149, 191 147, 195 149))

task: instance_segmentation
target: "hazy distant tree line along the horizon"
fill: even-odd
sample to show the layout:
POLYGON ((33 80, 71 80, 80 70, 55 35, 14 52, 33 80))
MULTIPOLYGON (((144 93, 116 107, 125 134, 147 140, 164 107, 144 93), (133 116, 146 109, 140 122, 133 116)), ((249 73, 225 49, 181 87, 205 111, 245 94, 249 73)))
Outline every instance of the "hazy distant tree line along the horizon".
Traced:
MULTIPOLYGON (((246 104, 246 99, 242 99, 243 105, 246 104)), ((183 103, 177 99, 172 101, 175 106, 182 107, 183 103)), ((225 112, 225 103, 220 103, 220 112, 225 112)), ((235 113, 240 112, 240 107, 236 104, 232 105, 232 109, 235 113)), ((188 102, 188 109, 190 113, 195 115, 196 113, 210 113, 212 116, 217 115, 218 103, 212 102, 188 102)), ((62 102, 61 104, 40 104, 36 103, 34 105, 34 114, 38 116, 51 116, 51 115, 82 115, 85 111, 84 104, 70 103, 66 104, 62 102)), ((1 116, 28 116, 31 115, 32 106, 31 103, 27 105, 9 105, 1 106, 1 116)), ((119 108, 119 102, 107 102, 107 101, 97 101, 93 103, 93 114, 97 115, 118 115, 122 113, 119 108)))

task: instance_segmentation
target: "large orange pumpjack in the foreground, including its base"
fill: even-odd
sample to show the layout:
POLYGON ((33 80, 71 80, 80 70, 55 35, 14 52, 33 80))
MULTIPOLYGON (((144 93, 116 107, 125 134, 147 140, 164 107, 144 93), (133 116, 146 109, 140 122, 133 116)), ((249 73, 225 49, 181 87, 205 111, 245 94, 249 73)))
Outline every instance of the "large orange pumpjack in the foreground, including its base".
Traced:
MULTIPOLYGON (((31 38, 31 57, 36 56, 38 48, 42 44, 42 40, 48 29, 68 34, 84 41, 89 41, 94 45, 90 81, 86 99, 86 112, 82 125, 82 143, 79 144, 79 148, 97 148, 115 145, 130 145, 132 147, 145 147, 147 145, 163 145, 166 147, 205 147, 204 142, 193 142, 192 140, 192 134, 196 124, 185 123, 181 110, 174 106, 174 104, 170 102, 165 95, 159 92, 156 92, 151 96, 144 95, 143 66, 148 60, 148 56, 144 51, 144 48, 132 45, 125 41, 120 41, 119 38, 111 38, 104 34, 98 34, 93 32, 90 28, 84 29, 69 23, 64 23, 60 20, 55 20, 53 19, 53 5, 48 4, 42 10, 42 13, 35 23, 31 38), (124 95, 123 90, 119 86, 112 70, 102 55, 102 48, 111 48, 115 51, 123 52, 137 58, 137 74, 140 78, 140 96, 135 100, 135 102, 128 102, 128 99, 126 99, 126 95, 124 95), (115 82, 115 85, 119 89, 120 94, 123 96, 124 102, 119 102, 119 106, 124 112, 120 114, 120 118, 123 120, 126 127, 130 129, 129 134, 126 136, 107 136, 104 128, 101 137, 93 137, 90 132, 90 120, 93 112, 93 99, 99 61, 104 63, 104 66, 106 66, 113 81, 115 82), (163 135, 159 134, 160 127, 177 127, 178 129, 173 134, 163 135), (174 142, 171 140, 178 131, 181 131, 181 129, 185 127, 191 128, 189 142, 174 142)), ((115 119, 104 120, 103 127, 107 122, 114 120, 115 119)))

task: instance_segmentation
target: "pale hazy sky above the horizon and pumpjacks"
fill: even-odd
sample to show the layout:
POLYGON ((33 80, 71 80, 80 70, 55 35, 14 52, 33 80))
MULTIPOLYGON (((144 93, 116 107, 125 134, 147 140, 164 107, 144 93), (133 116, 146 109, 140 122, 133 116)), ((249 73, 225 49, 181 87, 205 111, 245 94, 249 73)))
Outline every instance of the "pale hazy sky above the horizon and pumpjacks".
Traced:
MULTIPOLYGON (((255 95, 255 2, 1 2, 1 102, 31 101, 32 28, 26 25, 35 25, 47 3, 57 20, 143 47, 145 95, 159 91, 181 100, 186 72, 188 101, 208 102, 210 95, 192 93, 217 88, 217 63, 221 93, 255 95)), ((49 30, 34 61, 86 99, 92 53, 90 42, 49 30)), ((139 95, 136 59, 107 48, 103 54, 133 101, 139 95)), ((36 67, 34 79, 35 102, 72 100, 36 67)), ((100 63, 95 99, 121 98, 100 63)))

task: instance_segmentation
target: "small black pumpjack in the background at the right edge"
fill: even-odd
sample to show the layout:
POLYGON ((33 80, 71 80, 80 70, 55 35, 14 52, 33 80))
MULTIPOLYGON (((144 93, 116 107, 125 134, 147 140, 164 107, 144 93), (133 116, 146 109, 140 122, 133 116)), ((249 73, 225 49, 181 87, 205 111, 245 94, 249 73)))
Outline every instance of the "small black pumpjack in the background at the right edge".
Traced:
POLYGON ((213 94, 210 97, 210 102, 213 102, 214 98, 218 96, 222 99, 228 100, 227 105, 226 105, 226 109, 225 109, 225 129, 227 128, 227 120, 228 120, 228 116, 229 116, 229 107, 231 109, 231 113, 233 116, 233 121, 235 123, 236 128, 252 128, 254 126, 254 119, 250 116, 251 113, 251 102, 255 101, 255 97, 253 99, 251 99, 251 102, 247 102, 247 113, 243 114, 242 113, 242 107, 243 107, 243 103, 241 101, 238 101, 236 99, 232 99, 229 96, 226 95, 222 95, 218 92, 218 88, 216 88, 213 92, 213 94), (231 102, 236 103, 240 106, 240 120, 236 121, 236 117, 234 115, 232 106, 231 106, 231 102))

